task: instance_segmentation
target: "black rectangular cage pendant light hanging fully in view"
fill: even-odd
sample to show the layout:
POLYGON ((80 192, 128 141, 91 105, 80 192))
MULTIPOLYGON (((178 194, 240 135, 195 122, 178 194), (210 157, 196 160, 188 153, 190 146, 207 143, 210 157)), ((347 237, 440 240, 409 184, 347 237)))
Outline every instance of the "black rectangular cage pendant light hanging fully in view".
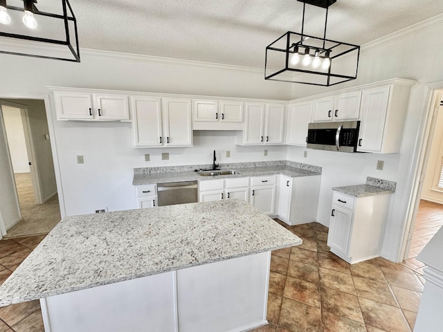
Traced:
POLYGON ((297 0, 303 3, 301 33, 288 31, 266 47, 264 79, 331 86, 357 77, 360 46, 326 39, 327 11, 336 0, 297 0), (325 8, 323 38, 305 34, 306 4, 325 8))

